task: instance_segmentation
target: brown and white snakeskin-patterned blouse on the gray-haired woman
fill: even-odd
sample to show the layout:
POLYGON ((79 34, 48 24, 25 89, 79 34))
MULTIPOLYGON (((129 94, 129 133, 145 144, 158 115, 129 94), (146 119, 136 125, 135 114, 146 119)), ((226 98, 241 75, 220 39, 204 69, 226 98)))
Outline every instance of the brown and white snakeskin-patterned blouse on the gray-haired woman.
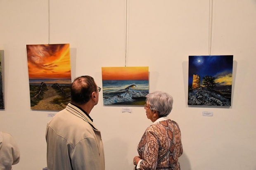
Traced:
POLYGON ((142 159, 139 164, 139 170, 180 170, 178 157, 182 155, 183 147, 179 125, 171 119, 164 119, 152 124, 143 134, 137 151, 142 159), (173 126, 175 126, 173 145, 168 154, 157 165, 159 159, 170 148, 173 138, 173 126))

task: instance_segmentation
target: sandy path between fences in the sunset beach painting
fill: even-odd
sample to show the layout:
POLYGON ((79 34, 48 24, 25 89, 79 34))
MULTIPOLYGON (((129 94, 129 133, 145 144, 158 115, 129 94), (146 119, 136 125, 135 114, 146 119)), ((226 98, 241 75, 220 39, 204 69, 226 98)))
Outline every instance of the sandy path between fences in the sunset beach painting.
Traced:
POLYGON ((45 91, 45 94, 43 95, 44 98, 43 100, 39 101, 39 103, 33 107, 31 107, 31 109, 41 109, 41 110, 62 110, 64 109, 64 107, 59 106, 58 104, 52 104, 51 101, 59 96, 55 90, 50 87, 47 86, 48 91, 45 91))

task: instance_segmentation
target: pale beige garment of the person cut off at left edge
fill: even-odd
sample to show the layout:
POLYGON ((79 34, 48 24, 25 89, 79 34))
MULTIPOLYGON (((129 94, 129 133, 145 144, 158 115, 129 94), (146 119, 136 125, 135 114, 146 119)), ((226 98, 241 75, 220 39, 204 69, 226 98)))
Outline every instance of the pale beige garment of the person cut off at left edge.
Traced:
POLYGON ((12 135, 0 131, 0 170, 12 170, 19 157, 19 146, 12 135))

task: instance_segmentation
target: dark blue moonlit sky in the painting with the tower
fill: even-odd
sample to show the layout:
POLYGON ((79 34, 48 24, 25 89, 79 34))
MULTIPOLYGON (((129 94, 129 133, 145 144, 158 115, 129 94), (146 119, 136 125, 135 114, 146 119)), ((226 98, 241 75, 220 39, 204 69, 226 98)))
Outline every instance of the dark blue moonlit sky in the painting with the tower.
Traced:
POLYGON ((188 84, 192 85, 193 74, 197 74, 201 77, 201 84, 202 78, 208 75, 216 78, 217 87, 232 85, 232 69, 233 55, 189 56, 188 84))

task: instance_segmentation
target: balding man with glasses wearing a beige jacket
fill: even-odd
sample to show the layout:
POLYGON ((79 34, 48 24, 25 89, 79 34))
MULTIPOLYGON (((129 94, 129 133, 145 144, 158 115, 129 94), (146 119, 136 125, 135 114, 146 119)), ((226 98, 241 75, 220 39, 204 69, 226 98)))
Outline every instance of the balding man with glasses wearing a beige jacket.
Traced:
POLYGON ((80 76, 71 84, 71 103, 47 124, 48 170, 105 169, 101 133, 89 116, 100 90, 90 76, 80 76))

